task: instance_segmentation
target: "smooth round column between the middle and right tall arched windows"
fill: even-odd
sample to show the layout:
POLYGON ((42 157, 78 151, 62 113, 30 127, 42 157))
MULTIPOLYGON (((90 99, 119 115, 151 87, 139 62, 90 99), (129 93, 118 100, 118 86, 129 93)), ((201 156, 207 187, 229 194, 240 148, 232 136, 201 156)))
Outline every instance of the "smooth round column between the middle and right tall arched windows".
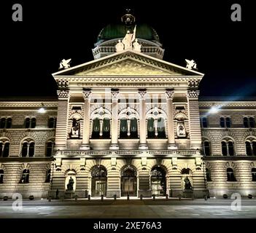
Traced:
POLYGON ((148 149, 147 139, 146 139, 146 90, 139 90, 139 149, 148 149))

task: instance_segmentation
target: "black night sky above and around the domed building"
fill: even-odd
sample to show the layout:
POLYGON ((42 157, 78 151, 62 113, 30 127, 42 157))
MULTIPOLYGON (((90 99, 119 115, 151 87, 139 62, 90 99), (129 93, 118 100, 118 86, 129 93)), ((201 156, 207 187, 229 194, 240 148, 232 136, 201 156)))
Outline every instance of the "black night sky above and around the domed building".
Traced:
POLYGON ((60 61, 71 58, 75 66, 93 60, 101 28, 119 22, 127 7, 137 22, 158 32, 164 60, 180 66, 185 58, 197 62, 205 74, 202 96, 256 96, 256 20, 250 2, 9 1, 1 6, 0 96, 56 96, 51 74, 60 61), (23 22, 12 22, 15 3, 23 5, 23 22), (241 22, 230 20, 233 3, 241 4, 241 22))

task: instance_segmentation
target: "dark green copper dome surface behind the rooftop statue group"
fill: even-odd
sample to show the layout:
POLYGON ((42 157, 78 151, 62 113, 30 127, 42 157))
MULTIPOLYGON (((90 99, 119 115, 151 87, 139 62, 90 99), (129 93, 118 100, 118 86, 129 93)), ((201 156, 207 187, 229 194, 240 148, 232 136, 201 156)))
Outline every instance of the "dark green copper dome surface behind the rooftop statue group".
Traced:
MULTIPOLYGON (((98 34, 98 42, 107 41, 110 39, 123 38, 127 31, 132 32, 133 25, 125 25, 125 24, 106 25, 106 27, 103 28, 101 32, 98 34)), ((136 24, 136 38, 159 42, 158 33, 156 33, 154 28, 150 27, 150 25, 147 25, 145 23, 136 24)))

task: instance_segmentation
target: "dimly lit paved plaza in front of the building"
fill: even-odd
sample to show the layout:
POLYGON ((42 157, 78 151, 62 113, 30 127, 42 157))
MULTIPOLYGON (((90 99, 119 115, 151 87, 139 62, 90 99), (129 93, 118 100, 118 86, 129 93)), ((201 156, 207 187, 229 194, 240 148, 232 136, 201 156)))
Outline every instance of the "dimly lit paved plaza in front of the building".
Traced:
POLYGON ((233 200, 25 200, 22 210, 13 210, 12 200, 1 200, 0 218, 256 218, 256 200, 241 200, 241 210, 231 210, 231 202, 233 200))

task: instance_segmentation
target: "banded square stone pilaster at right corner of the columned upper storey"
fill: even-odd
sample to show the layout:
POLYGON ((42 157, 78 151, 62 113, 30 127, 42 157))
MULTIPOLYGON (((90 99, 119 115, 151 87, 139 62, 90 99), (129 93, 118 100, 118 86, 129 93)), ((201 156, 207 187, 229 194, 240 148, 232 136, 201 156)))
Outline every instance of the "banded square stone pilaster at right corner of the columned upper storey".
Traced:
POLYGON ((187 90, 187 106, 190 123, 190 147, 201 149, 201 125, 198 105, 199 90, 187 90))

